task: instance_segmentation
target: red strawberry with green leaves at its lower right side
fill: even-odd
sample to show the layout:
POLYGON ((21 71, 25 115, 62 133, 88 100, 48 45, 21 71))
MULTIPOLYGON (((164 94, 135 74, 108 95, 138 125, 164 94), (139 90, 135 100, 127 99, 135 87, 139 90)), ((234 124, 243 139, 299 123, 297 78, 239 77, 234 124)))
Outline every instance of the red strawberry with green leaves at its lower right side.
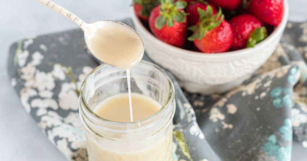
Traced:
POLYGON ((232 32, 232 50, 254 47, 255 44, 266 38, 266 28, 261 22, 250 14, 241 14, 229 21, 232 32))

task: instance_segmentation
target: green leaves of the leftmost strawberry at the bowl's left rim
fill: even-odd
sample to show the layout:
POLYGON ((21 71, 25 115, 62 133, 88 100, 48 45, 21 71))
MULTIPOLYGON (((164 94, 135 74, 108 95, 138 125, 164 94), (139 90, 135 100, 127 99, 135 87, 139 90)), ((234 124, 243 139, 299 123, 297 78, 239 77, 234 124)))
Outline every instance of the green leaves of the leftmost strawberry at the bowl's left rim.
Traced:
POLYGON ((160 4, 159 0, 133 0, 132 5, 142 6, 141 15, 149 17, 151 10, 160 4))

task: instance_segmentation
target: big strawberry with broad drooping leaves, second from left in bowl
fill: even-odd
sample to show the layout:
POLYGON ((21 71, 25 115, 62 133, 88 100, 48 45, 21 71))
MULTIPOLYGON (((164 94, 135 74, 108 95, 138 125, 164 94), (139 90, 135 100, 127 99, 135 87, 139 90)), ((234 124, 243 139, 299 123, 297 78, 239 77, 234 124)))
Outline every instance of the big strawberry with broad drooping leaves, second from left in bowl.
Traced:
POLYGON ((184 1, 161 0, 161 6, 155 7, 149 16, 149 27, 160 40, 183 47, 187 35, 187 21, 184 1))

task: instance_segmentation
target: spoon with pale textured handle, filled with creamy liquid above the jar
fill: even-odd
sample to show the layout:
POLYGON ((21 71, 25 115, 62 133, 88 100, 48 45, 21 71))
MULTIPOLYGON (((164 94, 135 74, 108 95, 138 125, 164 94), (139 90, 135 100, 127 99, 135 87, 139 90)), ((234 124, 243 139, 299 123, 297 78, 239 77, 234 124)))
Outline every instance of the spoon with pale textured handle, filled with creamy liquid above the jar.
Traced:
POLYGON ((37 1, 79 25, 84 32, 87 48, 98 60, 123 69, 134 67, 141 61, 144 54, 143 41, 128 25, 112 20, 87 24, 50 0, 37 1))

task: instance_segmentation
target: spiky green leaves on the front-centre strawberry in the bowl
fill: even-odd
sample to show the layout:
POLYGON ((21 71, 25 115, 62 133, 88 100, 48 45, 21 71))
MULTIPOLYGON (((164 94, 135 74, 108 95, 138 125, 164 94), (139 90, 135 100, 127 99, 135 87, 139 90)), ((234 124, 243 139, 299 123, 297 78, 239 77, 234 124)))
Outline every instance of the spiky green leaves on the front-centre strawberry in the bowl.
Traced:
POLYGON ((206 10, 197 8, 197 12, 199 14, 200 22, 199 24, 188 28, 188 30, 194 32, 192 36, 188 37, 188 40, 190 41, 202 39, 208 31, 218 27, 224 20, 221 8, 219 8, 219 11, 214 15, 212 6, 210 5, 206 7, 206 10))

